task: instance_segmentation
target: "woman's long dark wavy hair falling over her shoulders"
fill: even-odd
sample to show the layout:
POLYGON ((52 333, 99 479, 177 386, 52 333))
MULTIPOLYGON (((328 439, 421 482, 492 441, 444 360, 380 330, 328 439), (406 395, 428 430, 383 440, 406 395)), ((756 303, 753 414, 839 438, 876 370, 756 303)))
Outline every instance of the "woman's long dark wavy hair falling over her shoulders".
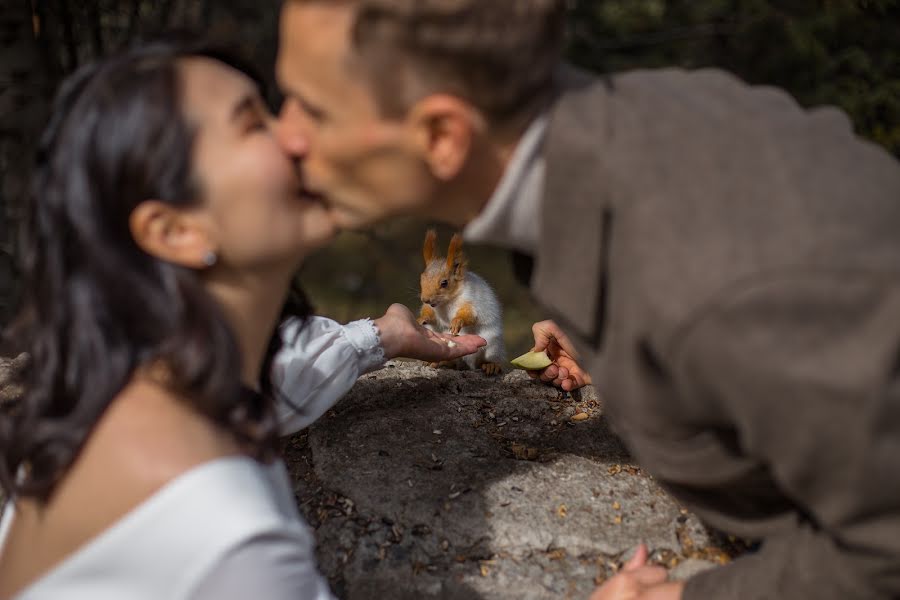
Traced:
MULTIPOLYGON (((165 365, 171 389, 254 456, 275 449, 268 374, 280 336, 261 393, 247 390, 235 337, 197 273, 143 252, 129 229, 144 200, 201 201, 179 60, 211 58, 260 82, 241 60, 182 37, 85 66, 57 94, 32 178, 22 309, 8 332, 30 355, 24 396, 0 414, 8 494, 46 501, 142 365, 165 365)), ((293 291, 285 315, 308 313, 293 291)))

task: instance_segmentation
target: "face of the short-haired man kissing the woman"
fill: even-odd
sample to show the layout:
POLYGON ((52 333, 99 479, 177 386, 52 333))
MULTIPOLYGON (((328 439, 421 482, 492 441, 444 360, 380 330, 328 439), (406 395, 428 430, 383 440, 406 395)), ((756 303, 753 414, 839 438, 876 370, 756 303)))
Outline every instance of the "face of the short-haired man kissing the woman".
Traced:
POLYGON ((351 64, 352 2, 291 2, 281 14, 279 139, 340 227, 428 214, 434 181, 405 119, 381 115, 351 64))

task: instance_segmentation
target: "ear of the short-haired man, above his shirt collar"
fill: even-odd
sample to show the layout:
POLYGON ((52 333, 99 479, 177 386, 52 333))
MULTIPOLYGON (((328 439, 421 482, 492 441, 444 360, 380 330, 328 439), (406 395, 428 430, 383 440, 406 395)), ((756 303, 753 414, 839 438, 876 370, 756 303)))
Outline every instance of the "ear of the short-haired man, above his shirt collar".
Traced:
POLYGON ((449 94, 433 94, 409 111, 416 142, 432 174, 447 181, 456 177, 469 158, 473 138, 484 128, 480 113, 449 94))

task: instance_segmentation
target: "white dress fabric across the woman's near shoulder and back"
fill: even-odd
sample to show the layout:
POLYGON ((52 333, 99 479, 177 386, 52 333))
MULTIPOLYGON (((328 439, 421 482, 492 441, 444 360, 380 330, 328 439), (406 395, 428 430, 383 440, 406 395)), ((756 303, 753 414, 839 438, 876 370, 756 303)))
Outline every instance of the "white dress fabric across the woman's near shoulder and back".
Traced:
MULTIPOLYGON (((14 515, 8 504, 0 548, 14 515)), ((222 458, 170 481, 15 600, 332 600, 314 548, 283 463, 222 458)))

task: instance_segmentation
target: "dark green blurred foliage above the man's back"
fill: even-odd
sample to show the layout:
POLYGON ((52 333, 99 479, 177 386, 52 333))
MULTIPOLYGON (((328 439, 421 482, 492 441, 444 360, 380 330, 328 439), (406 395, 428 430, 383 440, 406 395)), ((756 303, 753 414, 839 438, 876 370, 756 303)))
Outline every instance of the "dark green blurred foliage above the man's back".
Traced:
POLYGON ((581 0, 570 59, 599 70, 715 66, 836 104, 900 156, 897 0, 581 0))

